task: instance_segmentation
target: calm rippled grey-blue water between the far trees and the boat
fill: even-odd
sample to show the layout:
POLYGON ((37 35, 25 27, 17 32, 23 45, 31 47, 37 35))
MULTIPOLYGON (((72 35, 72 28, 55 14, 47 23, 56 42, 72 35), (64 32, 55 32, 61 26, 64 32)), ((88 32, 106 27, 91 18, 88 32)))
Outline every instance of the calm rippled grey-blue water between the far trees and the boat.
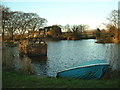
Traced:
MULTIPOLYGON (((55 77, 56 72, 77 66, 85 61, 104 59, 113 70, 119 67, 118 44, 97 44, 95 40, 48 41, 47 57, 19 57, 17 47, 4 50, 3 59, 11 59, 16 69, 32 67, 37 75, 55 77), (9 55, 10 54, 10 55, 9 55)), ((13 64, 12 63, 12 64, 13 64)))

